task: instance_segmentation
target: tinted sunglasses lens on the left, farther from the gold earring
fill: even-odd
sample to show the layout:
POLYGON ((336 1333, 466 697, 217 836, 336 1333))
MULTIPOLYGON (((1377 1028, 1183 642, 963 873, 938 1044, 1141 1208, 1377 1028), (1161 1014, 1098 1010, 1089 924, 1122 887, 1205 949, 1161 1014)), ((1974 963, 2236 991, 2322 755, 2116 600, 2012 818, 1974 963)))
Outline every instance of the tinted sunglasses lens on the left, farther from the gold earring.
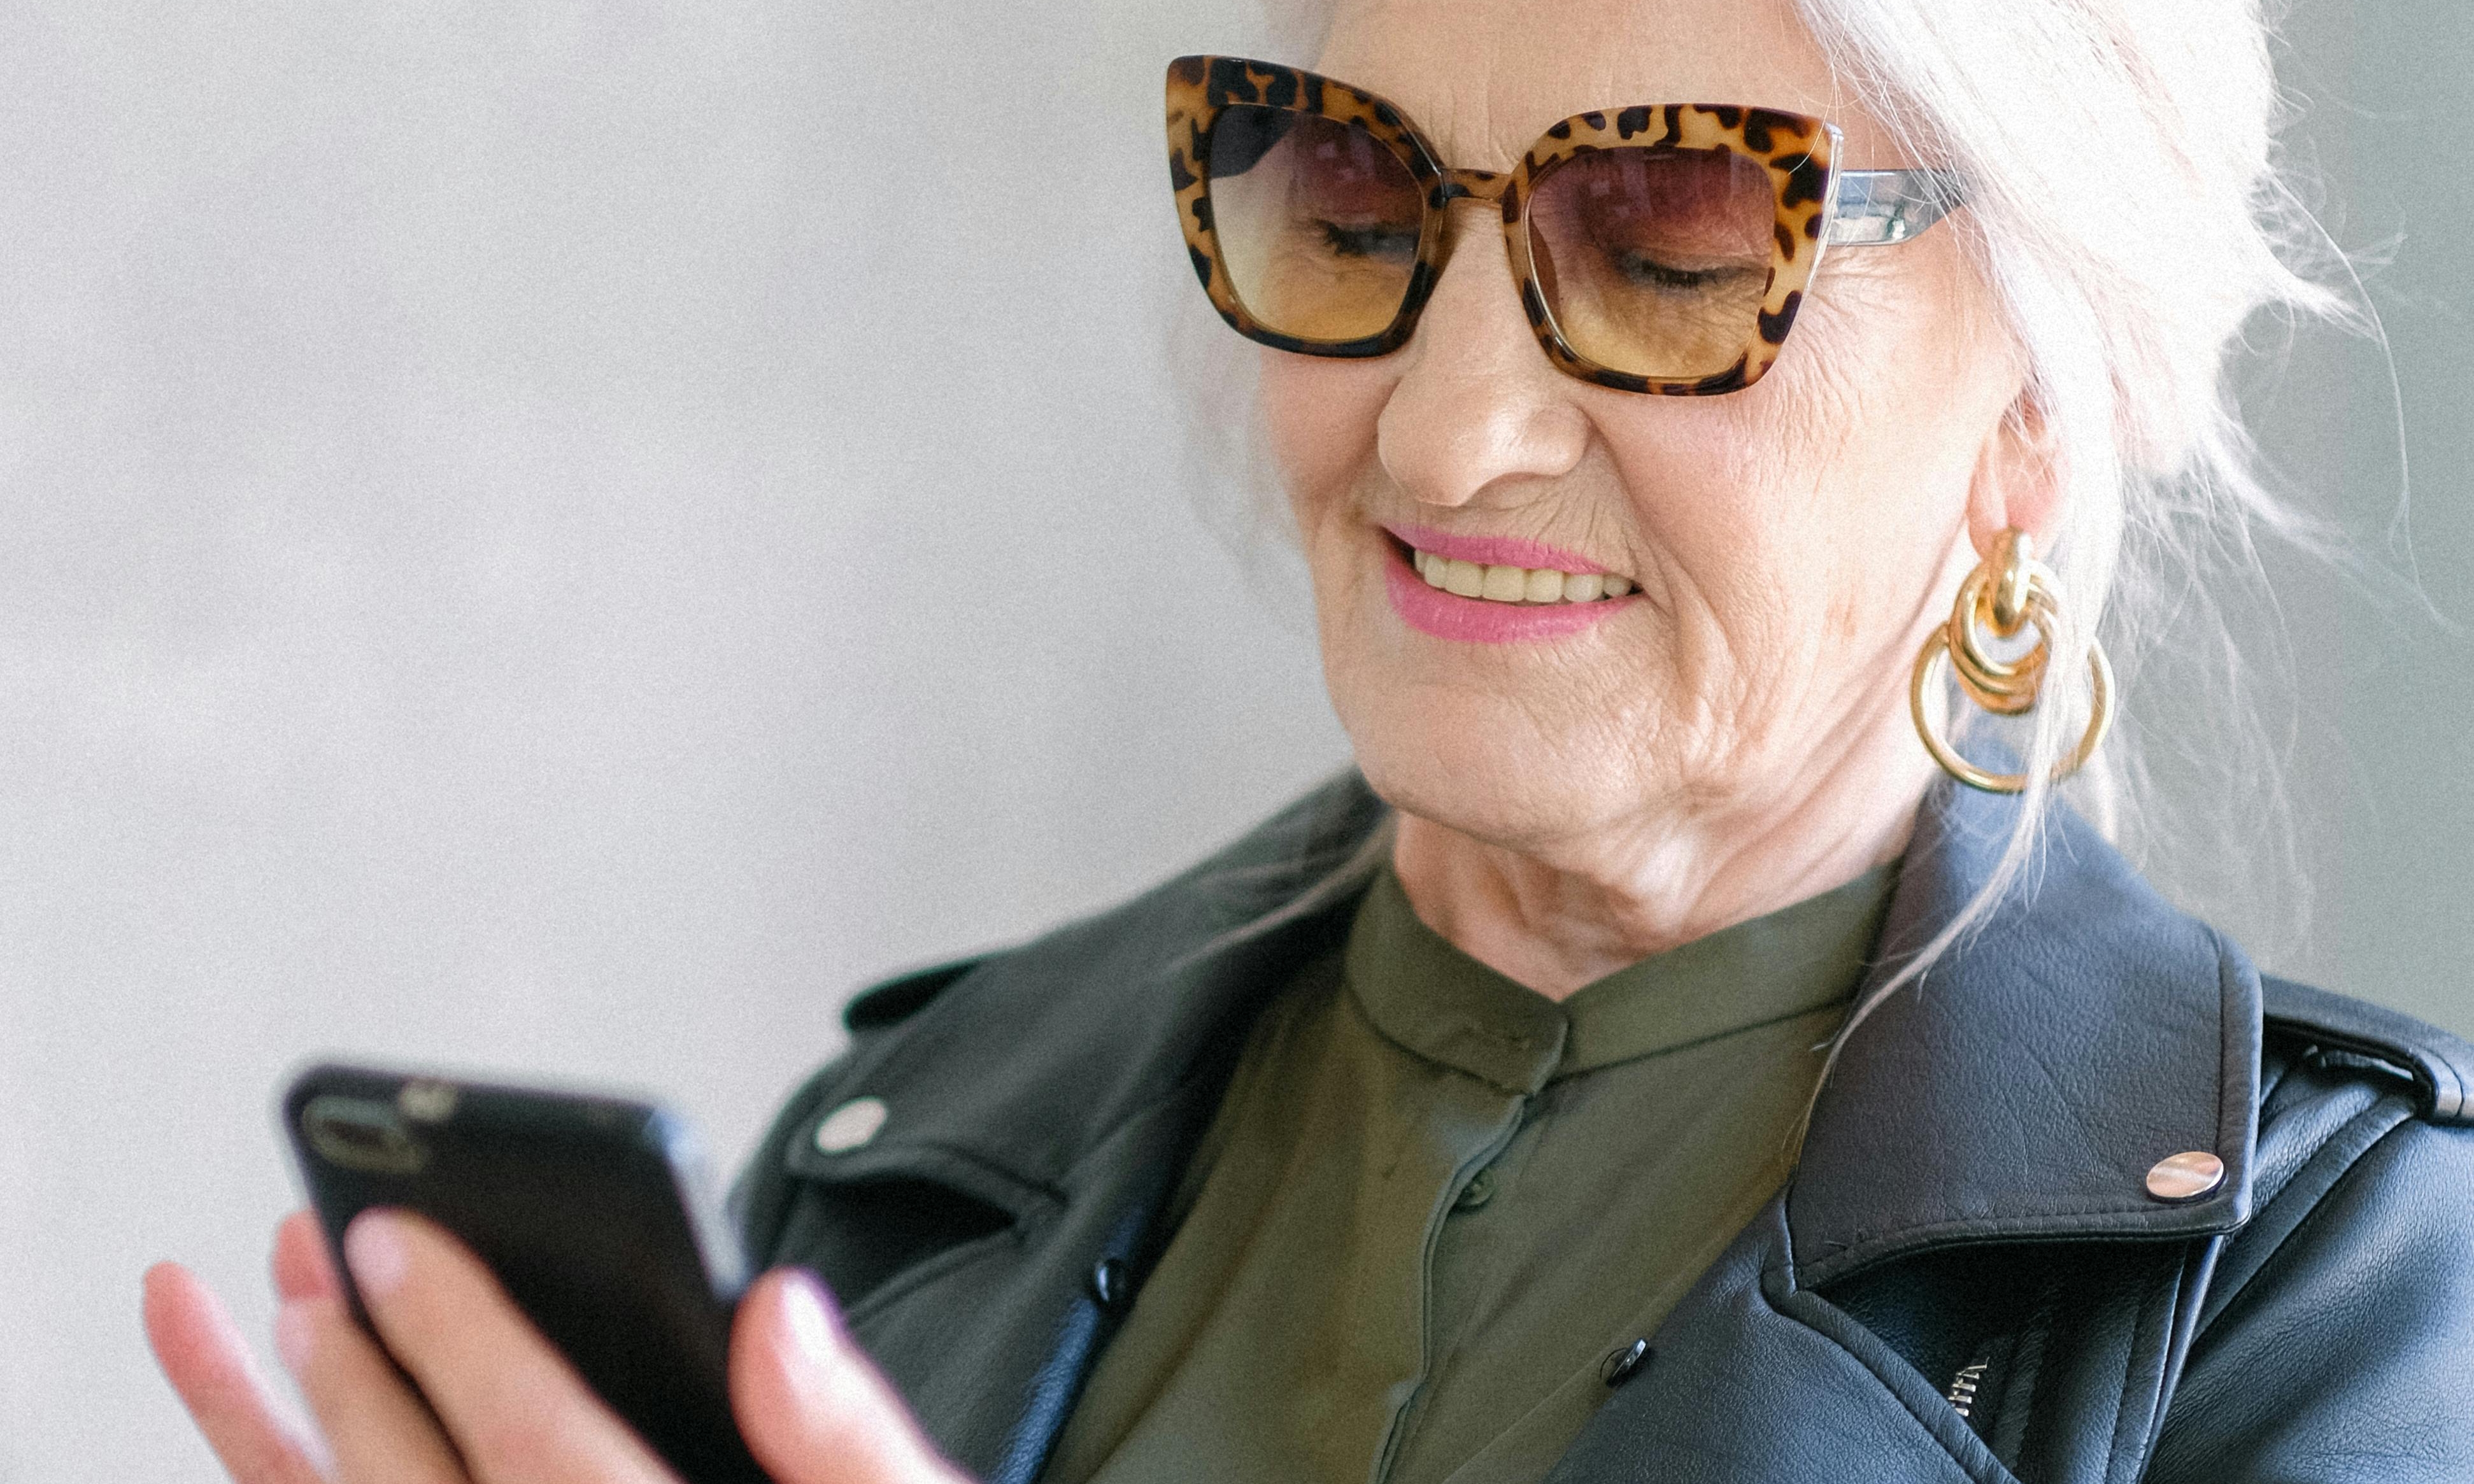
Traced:
POLYGON ((1376 136, 1230 104, 1205 171, 1220 262, 1264 329, 1336 344, 1383 334, 1400 314, 1425 193, 1376 136))

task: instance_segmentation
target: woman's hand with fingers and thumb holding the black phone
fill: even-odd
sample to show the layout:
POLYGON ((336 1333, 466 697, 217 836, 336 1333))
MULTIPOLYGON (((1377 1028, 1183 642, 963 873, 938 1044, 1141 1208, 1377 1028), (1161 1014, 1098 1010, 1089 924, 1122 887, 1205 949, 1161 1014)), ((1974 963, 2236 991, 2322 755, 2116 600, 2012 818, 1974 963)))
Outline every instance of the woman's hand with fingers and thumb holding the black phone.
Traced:
MULTIPOLYGON (((453 1237, 369 1212, 344 1256, 421 1392, 351 1321, 317 1224, 294 1212, 275 1232, 275 1348, 322 1439, 285 1427, 195 1276, 146 1274, 146 1338, 238 1484, 678 1484, 453 1237)), ((782 1484, 962 1484, 802 1271, 764 1274, 740 1303, 730 1402, 782 1484)))

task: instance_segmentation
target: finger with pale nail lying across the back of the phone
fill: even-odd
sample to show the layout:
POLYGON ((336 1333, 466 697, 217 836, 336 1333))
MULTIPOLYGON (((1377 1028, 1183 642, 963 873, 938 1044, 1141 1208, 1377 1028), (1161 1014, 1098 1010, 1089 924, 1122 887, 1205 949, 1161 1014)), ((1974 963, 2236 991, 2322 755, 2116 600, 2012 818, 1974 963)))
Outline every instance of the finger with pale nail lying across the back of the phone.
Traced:
POLYGON ((344 1261, 482 1484, 675 1484, 460 1242, 408 1212, 361 1212, 344 1261))

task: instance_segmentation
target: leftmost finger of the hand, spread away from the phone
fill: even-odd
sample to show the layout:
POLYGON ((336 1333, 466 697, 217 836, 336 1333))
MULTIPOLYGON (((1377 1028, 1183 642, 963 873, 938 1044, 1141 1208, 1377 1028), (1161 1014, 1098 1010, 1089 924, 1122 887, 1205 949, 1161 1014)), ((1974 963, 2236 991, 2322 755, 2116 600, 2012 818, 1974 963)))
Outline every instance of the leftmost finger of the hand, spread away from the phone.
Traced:
POLYGON ((309 1447, 267 1397, 240 1328, 188 1269, 146 1269, 146 1343, 235 1484, 322 1484, 309 1447))

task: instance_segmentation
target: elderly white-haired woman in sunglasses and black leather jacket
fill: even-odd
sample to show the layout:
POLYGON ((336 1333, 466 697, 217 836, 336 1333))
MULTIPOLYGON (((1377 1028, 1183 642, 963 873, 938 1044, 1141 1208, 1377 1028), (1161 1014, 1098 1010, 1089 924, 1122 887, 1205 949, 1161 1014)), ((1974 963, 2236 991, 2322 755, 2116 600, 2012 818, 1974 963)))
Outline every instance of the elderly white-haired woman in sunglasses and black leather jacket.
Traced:
MULTIPOLYGON (((742 1187, 767 1469, 2474 1477, 2474 1051, 2053 794, 2108 799, 2123 532, 2269 514, 2222 351, 2326 307, 2269 109, 2244 0, 1348 0, 1314 72, 1170 64, 1358 769, 851 1004, 742 1187)), ((332 1477, 663 1477, 453 1242, 346 1259, 426 1405, 289 1222, 332 1477)), ((176 1269, 151 1318, 238 1479, 327 1477, 176 1269)))

